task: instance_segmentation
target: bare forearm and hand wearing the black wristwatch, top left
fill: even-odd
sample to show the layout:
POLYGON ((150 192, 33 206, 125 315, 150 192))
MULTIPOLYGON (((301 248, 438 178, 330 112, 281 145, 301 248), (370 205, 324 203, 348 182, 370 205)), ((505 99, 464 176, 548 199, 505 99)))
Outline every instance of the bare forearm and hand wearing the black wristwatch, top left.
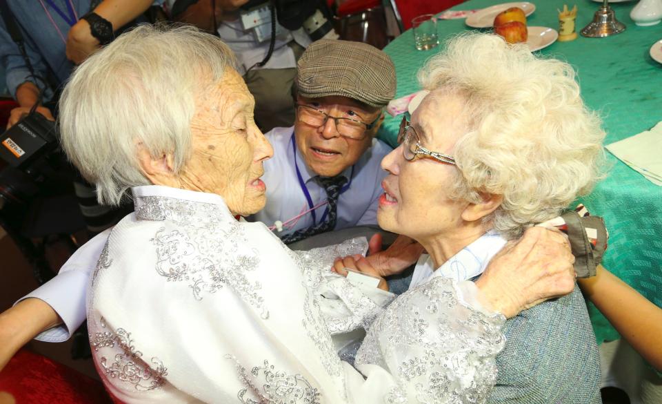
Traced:
MULTIPOLYGON (((152 3, 154 0, 104 0, 94 12, 110 21, 115 32, 139 17, 152 3)), ((71 27, 67 38, 67 59, 81 64, 99 48, 99 40, 92 36, 88 21, 81 19, 71 27)))

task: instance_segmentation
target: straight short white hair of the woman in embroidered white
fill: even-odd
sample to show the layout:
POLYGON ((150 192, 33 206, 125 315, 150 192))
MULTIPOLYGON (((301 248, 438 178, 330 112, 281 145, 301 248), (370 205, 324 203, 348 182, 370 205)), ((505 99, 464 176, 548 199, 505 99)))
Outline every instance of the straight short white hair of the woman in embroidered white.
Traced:
POLYGON ((191 155, 194 97, 234 67, 232 50, 191 26, 143 25, 79 66, 60 102, 61 144, 97 199, 119 204, 131 186, 148 185, 137 159, 172 153, 174 170, 191 155))

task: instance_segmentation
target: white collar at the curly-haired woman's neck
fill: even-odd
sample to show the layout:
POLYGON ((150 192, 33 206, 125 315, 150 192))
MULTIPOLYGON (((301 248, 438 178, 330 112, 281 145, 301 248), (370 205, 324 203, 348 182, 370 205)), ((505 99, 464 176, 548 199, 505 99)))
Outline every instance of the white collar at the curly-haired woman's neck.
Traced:
POLYGON ((409 289, 428 282, 434 276, 451 278, 457 282, 479 276, 485 271, 492 257, 501 251, 505 243, 506 240, 501 235, 495 231, 488 231, 444 262, 437 271, 433 271, 432 257, 423 254, 416 264, 409 289))

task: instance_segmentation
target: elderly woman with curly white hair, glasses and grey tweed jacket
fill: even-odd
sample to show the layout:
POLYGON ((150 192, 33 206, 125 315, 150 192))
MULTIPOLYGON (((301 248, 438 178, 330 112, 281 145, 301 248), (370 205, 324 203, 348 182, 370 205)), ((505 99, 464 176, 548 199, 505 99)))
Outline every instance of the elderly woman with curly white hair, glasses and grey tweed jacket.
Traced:
MULTIPOLYGON (((443 278, 480 282, 485 264, 508 240, 559 215, 591 189, 605 135, 585 108, 570 65, 535 57, 499 37, 453 39, 419 80, 429 93, 411 122, 403 118, 400 146, 382 161, 389 175, 379 225, 410 236, 429 253, 399 299, 443 278)), ((337 272, 343 267, 384 274, 352 257, 335 263, 337 272)), ((418 327, 392 320, 399 299, 372 324, 370 345, 363 343, 357 364, 388 363, 388 352, 374 346, 384 337, 373 333, 418 327)), ((496 357, 488 402, 601 401, 599 356, 579 289, 522 311, 504 330, 507 343, 496 357)), ((422 402, 435 402, 428 399, 422 402)))

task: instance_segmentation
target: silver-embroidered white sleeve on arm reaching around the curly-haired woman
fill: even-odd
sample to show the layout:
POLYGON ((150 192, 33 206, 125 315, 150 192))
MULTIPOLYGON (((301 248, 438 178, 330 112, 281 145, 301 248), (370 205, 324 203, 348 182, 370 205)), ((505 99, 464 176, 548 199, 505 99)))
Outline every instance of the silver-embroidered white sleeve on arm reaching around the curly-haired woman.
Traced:
POLYGON ((385 396, 389 404, 483 403, 496 380, 495 354, 505 345, 504 321, 461 304, 451 280, 433 278, 374 320, 355 364, 391 369, 397 385, 385 396))

